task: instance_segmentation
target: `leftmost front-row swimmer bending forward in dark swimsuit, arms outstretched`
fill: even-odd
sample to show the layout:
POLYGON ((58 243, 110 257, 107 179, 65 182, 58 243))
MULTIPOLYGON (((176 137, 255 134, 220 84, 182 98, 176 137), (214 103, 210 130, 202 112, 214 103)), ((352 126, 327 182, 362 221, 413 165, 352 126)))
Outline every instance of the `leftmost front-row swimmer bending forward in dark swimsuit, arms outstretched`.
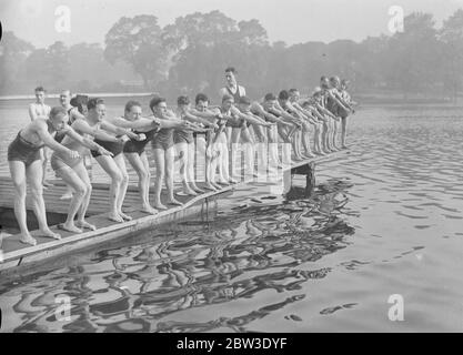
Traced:
POLYGON ((53 108, 50 118, 36 119, 22 129, 14 141, 8 146, 8 164, 14 185, 14 215, 21 231, 22 243, 36 245, 27 225, 26 193, 27 181, 31 191, 34 213, 39 222, 40 235, 61 239, 58 233, 50 231, 47 225, 46 205, 43 202, 42 163, 39 150, 44 145, 60 152, 69 159, 79 158, 79 153, 56 142, 51 134, 66 128, 68 115, 62 108, 53 108))

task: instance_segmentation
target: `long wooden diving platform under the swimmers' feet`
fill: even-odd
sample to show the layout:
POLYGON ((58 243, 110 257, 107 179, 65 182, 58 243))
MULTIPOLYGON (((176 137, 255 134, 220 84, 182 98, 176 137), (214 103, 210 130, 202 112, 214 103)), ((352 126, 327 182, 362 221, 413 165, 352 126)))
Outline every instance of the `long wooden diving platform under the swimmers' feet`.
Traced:
MULTIPOLYGON (((291 179, 292 174, 304 174, 308 176, 308 184, 311 182, 314 185, 314 164, 345 152, 346 151, 340 151, 325 156, 318 156, 283 166, 279 170, 279 178, 288 180, 291 179)), ((43 196, 48 223, 49 225, 52 225, 52 231, 57 231, 61 234, 61 240, 38 236, 38 231, 32 231, 32 229, 30 229, 32 231, 31 234, 37 239, 37 245, 34 246, 20 243, 19 235, 3 236, 2 241, 0 241, 0 276, 7 274, 21 274, 51 258, 69 254, 77 250, 90 246, 94 247, 98 244, 120 240, 121 237, 133 235, 135 232, 152 229, 155 225, 174 223, 192 215, 208 215, 217 204, 218 199, 223 197, 227 194, 232 194, 232 191, 236 186, 254 181, 259 182, 259 179, 251 176, 243 179, 236 184, 224 186, 222 190, 208 191, 198 196, 177 195, 175 197, 182 202, 183 205, 171 206, 155 215, 149 215, 137 210, 137 206, 140 205, 138 189, 135 186, 129 186, 123 210, 127 214, 132 216, 133 220, 124 223, 115 223, 108 220, 109 186, 108 184, 94 183, 92 184, 93 191, 87 220, 97 226, 97 231, 85 230, 84 233, 80 234, 72 234, 57 229, 56 224, 66 220, 70 201, 59 199, 66 191, 66 185, 62 181, 52 181, 54 186, 44 190, 43 196)), ((200 182, 198 183, 198 186, 203 187, 200 182)), ((175 191, 179 189, 180 185, 177 184, 175 191)), ((161 197, 164 203, 165 195, 161 195, 161 197)), ((33 213, 31 211, 31 202, 28 197, 27 209, 28 220, 32 220, 33 213), (29 214, 31 217, 29 217, 29 214)), ((4 224, 4 221, 14 217, 12 211, 13 189, 11 180, 10 178, 0 178, 0 223, 4 224)))

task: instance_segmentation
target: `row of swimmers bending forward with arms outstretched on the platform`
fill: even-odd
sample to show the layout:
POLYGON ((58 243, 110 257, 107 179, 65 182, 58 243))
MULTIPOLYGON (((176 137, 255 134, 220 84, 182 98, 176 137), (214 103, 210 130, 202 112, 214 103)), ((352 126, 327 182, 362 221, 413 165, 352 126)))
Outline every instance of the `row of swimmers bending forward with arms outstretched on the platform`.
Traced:
MULTIPOLYGON (((50 164, 53 171, 72 191, 68 216, 60 229, 82 233, 85 229, 97 229, 85 221, 92 192, 83 161, 89 151, 111 180, 108 214, 111 221, 121 223, 132 219, 122 211, 129 183, 124 158, 139 176, 140 210, 155 214, 167 209, 161 202, 163 182, 168 190, 167 203, 181 205, 173 191, 175 152, 181 159, 183 194, 197 195, 204 190, 217 191, 238 182, 233 154, 236 155, 239 149, 244 152, 249 172, 254 169, 255 153, 258 160, 263 156, 261 148, 268 148, 268 162, 275 169, 288 159, 299 161, 345 148, 343 136, 341 146, 336 144, 336 122, 346 121, 348 115, 354 112, 353 102, 346 99, 345 90, 343 93, 336 88, 338 78, 328 82, 330 87, 326 88, 322 82, 322 87, 316 88, 306 100, 300 100, 299 91, 293 89, 282 90, 278 97, 268 93, 262 101, 252 102, 241 95, 238 89, 239 95, 236 92, 223 92, 218 106, 209 106, 208 97, 200 93, 195 97, 194 106, 188 97, 180 97, 177 108, 170 110, 165 99, 154 97, 149 103, 151 115, 145 116, 141 103, 131 100, 125 104, 122 116, 111 119, 105 116, 103 99, 92 98, 87 105, 79 103, 74 108, 70 104, 69 91, 60 95, 60 106, 47 112, 43 100, 39 100, 44 91, 38 88, 38 102, 30 106, 33 120, 8 148, 21 242, 31 245, 37 243, 27 227, 27 182, 39 234, 60 239, 60 234, 51 231, 47 224, 42 195, 44 146, 52 151, 50 164), (197 140, 193 139, 194 133, 198 133, 197 140), (241 148, 235 144, 236 136, 241 148), (153 205, 149 201, 151 175, 145 152, 149 142, 155 163, 153 205), (279 146, 283 146, 281 159, 279 146), (203 187, 199 187, 194 180, 197 150, 202 150, 200 153, 205 156, 203 187)), ((230 91, 230 88, 225 89, 230 91)))

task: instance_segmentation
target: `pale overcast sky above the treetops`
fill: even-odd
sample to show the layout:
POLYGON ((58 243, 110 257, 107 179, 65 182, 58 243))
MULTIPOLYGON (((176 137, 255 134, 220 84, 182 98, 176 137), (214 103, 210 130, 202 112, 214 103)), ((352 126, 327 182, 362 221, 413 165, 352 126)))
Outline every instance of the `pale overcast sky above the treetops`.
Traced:
POLYGON ((240 21, 258 19, 271 42, 289 44, 336 39, 361 41, 368 36, 387 33, 391 6, 401 6, 405 16, 431 12, 437 22, 446 19, 463 0, 0 0, 3 31, 11 30, 36 47, 57 40, 67 44, 103 43, 104 34, 121 17, 154 14, 159 24, 172 23, 179 16, 220 10, 240 21), (54 29, 59 6, 71 10, 71 32, 54 29))

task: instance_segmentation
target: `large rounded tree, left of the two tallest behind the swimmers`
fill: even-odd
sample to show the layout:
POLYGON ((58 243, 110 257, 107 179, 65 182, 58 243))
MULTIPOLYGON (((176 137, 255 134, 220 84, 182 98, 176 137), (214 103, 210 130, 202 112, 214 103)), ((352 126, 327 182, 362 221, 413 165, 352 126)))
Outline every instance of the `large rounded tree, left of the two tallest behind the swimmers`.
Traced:
POLYGON ((130 63, 150 90, 167 75, 161 33, 154 16, 123 17, 105 36, 104 58, 111 64, 117 61, 130 63))

